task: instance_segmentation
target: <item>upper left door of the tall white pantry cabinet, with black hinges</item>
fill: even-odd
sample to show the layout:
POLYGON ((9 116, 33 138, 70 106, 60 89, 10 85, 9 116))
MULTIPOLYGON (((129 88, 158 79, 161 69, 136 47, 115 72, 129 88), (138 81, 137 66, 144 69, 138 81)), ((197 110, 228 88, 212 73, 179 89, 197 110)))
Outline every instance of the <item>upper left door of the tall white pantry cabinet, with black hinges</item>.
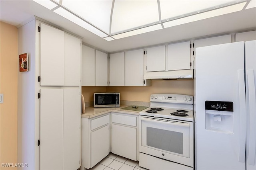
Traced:
POLYGON ((40 23, 40 85, 64 85, 64 31, 40 23))

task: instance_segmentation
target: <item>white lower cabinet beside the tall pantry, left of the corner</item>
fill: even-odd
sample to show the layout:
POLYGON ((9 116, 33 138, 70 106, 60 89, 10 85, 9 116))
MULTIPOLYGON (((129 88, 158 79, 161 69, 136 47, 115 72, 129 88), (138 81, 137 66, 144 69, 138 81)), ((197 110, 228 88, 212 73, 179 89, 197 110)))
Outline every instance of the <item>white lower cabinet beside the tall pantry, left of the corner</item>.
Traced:
POLYGON ((82 167, 92 168, 110 152, 110 113, 82 118, 82 167))

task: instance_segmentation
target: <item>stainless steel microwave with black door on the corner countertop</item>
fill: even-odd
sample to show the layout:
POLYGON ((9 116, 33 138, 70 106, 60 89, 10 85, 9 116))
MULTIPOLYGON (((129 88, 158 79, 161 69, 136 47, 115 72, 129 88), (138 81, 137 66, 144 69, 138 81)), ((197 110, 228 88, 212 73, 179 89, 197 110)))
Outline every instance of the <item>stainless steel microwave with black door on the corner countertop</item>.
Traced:
POLYGON ((120 107, 120 93, 94 93, 94 107, 120 107))

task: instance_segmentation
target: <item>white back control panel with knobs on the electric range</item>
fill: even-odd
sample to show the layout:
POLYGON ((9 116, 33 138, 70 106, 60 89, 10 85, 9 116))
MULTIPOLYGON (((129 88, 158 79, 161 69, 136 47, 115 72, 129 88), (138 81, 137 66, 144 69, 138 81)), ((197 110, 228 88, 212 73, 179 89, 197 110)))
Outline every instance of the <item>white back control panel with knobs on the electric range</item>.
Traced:
POLYGON ((150 101, 193 104, 193 96, 182 94, 151 94, 150 101))

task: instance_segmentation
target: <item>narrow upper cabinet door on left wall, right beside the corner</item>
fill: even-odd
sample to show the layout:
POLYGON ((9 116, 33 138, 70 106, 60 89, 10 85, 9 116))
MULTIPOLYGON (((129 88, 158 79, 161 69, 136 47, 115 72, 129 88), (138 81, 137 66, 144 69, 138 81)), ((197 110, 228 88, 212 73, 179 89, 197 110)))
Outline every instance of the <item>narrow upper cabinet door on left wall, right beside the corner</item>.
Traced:
POLYGON ((108 54, 95 51, 95 86, 108 86, 108 54))

